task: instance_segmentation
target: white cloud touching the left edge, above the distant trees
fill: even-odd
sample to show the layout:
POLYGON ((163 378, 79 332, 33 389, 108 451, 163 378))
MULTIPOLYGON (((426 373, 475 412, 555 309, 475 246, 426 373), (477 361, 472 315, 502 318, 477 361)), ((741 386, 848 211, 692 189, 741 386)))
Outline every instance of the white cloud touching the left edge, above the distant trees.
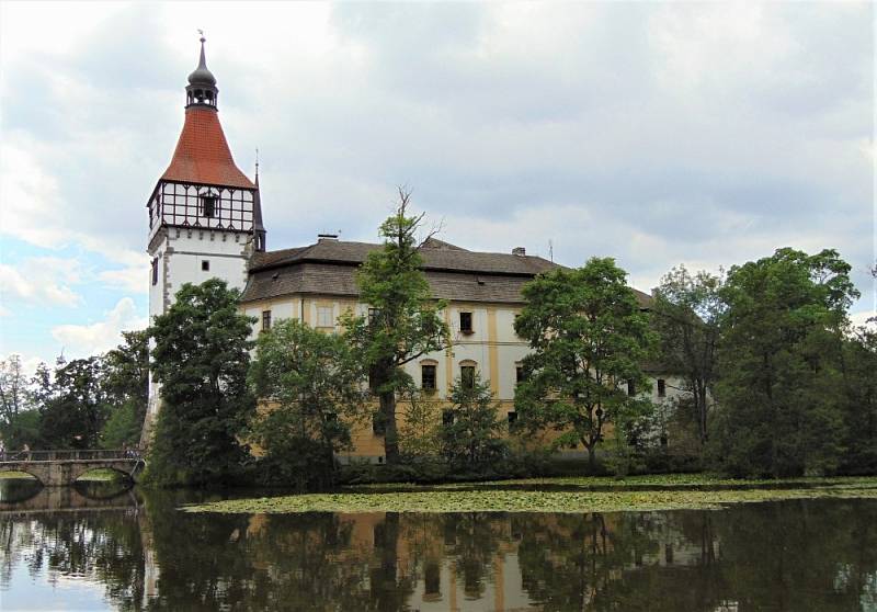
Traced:
POLYGON ((48 306, 78 306, 82 297, 70 285, 82 282, 75 259, 30 258, 13 265, 0 263, 0 301, 23 301, 48 306))

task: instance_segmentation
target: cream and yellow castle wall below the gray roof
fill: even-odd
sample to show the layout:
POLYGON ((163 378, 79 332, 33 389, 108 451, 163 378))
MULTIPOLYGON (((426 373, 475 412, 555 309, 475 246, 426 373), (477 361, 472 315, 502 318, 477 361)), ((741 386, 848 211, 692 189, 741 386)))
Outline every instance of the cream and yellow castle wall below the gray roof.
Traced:
MULTIPOLYGON (((420 386, 422 383, 421 366, 429 363, 436 366, 436 389, 430 396, 435 405, 436 419, 441 418, 443 406, 447 405, 448 394, 454 381, 460 374, 464 364, 474 364, 485 382, 490 383, 493 397, 499 405, 499 417, 508 420, 508 413, 514 411, 514 390, 516 385, 516 365, 529 351, 527 343, 514 331, 514 318, 521 307, 513 304, 478 304, 452 302, 442 313, 451 329, 453 345, 444 351, 428 353, 406 365, 406 372, 420 386), (471 313, 472 333, 460 330, 460 313, 471 313)), ((241 305, 241 310, 255 318, 251 339, 255 339, 262 329, 262 313, 271 311, 272 325, 287 318, 296 318, 326 332, 341 331, 338 318, 348 310, 357 315, 367 314, 367 305, 358 304, 350 298, 320 295, 289 295, 280 298, 249 302, 241 305), (320 326, 320 308, 331 309, 331 326, 320 326)), ((654 374, 650 395, 656 403, 670 403, 681 395, 680 382, 676 378, 654 374), (665 397, 658 396, 657 378, 665 381, 665 397)), ((405 423, 407 405, 399 403, 397 422, 405 423)), ((377 406, 375 406, 377 409, 377 406)), ((554 434, 546 432, 538 442, 544 443, 554 434)), ((342 461, 377 462, 384 456, 384 438, 376 435, 371 427, 357 427, 352 432, 354 450, 342 456, 342 461)), ((536 442, 536 440, 534 440, 536 442)), ((582 452, 579 447, 567 452, 582 452)))

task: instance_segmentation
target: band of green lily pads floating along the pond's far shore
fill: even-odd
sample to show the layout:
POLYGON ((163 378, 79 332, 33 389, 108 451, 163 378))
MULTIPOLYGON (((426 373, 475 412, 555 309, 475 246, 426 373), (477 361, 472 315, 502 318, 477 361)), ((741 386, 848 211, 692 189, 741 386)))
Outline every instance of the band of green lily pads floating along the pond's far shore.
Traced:
MULTIPOLYGON (((681 476, 673 476, 676 479, 681 476)), ((640 479, 656 477, 636 477, 640 479)), ((729 503, 753 503, 785 499, 816 498, 867 498, 877 499, 877 478, 825 478, 811 479, 807 484, 773 480, 761 488, 748 483, 745 488, 726 487, 727 480, 704 479, 694 483, 696 487, 637 490, 636 481, 630 486, 612 478, 595 478, 612 488, 589 490, 594 486, 591 478, 577 486, 570 480, 582 479, 535 479, 535 486, 560 484, 570 487, 565 490, 527 490, 503 488, 496 483, 493 487, 458 488, 448 490, 440 487, 411 487, 403 491, 333 492, 296 495, 285 497, 263 497, 258 499, 235 499, 187 506, 189 512, 226 513, 297 513, 297 512, 612 512, 620 510, 675 510, 716 509, 729 503), (717 490, 709 490, 709 484, 717 490)), ((522 481, 505 483, 520 485, 522 481)), ((653 486, 653 483, 650 483, 653 486)), ((675 483, 679 485, 679 481, 675 483)))

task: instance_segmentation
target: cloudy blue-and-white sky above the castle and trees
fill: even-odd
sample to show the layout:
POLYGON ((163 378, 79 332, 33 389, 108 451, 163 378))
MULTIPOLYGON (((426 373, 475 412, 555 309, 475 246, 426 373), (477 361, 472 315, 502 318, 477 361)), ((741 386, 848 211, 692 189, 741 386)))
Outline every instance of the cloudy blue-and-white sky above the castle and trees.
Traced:
POLYGON ((198 34, 269 249, 377 241, 398 185, 440 238, 650 291, 838 249, 874 314, 869 3, 0 2, 0 356, 147 325, 146 201, 198 34))

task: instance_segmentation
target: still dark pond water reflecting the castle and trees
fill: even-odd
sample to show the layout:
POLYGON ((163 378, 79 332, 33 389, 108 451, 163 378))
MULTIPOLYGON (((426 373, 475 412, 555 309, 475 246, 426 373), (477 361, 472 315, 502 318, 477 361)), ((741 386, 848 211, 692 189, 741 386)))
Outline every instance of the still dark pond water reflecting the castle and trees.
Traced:
POLYGON ((0 610, 877 612, 877 501, 191 514, 0 481, 0 610))

